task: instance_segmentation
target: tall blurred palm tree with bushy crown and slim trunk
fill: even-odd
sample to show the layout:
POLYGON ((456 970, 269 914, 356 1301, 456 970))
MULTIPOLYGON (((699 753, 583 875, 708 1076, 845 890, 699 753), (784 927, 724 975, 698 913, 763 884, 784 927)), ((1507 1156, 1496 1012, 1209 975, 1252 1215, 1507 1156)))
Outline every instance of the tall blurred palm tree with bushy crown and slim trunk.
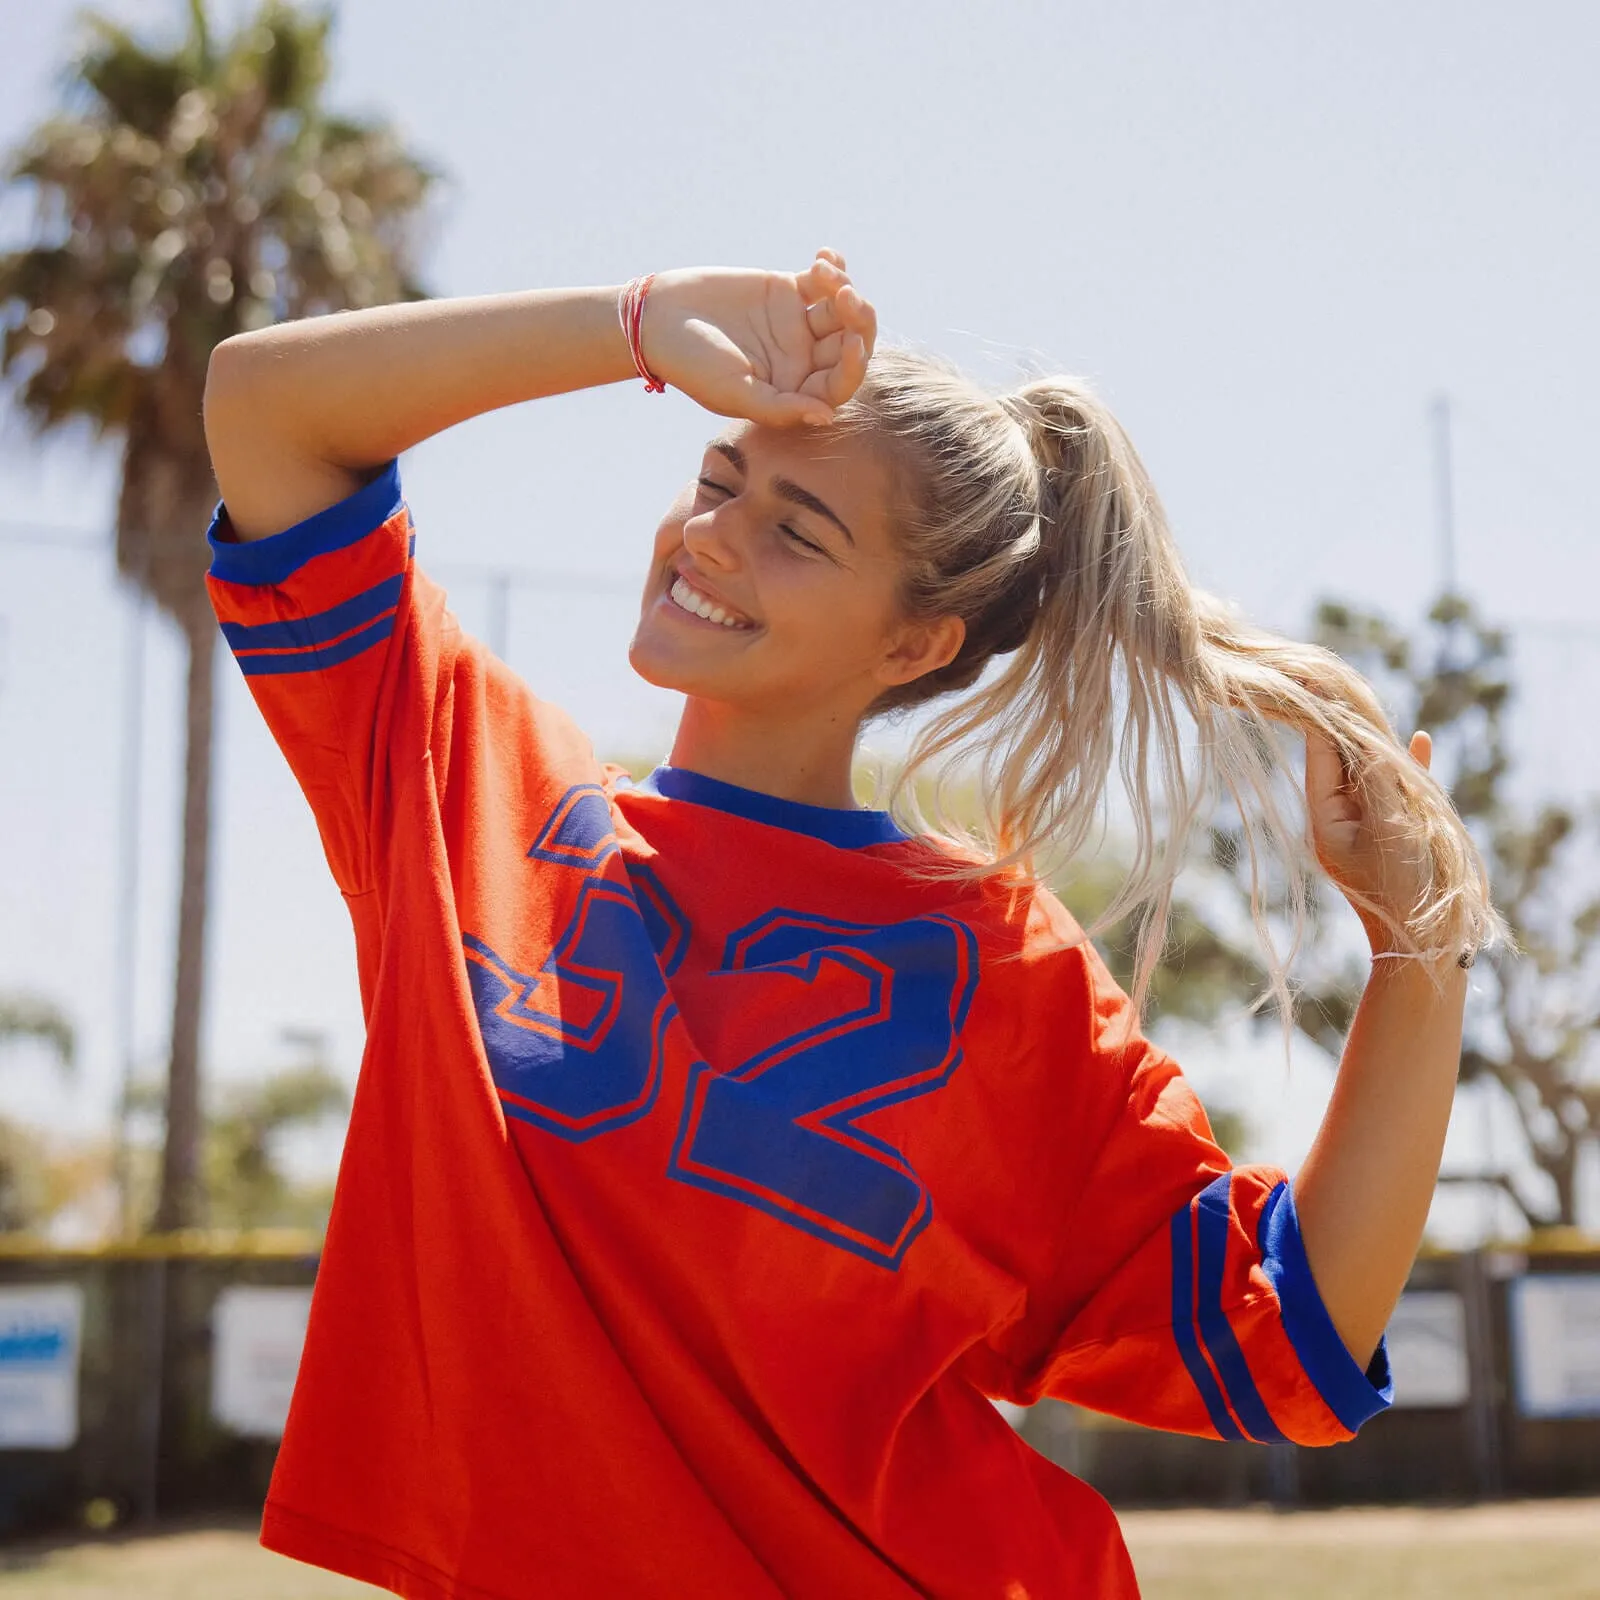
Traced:
POLYGON ((286 317, 419 299, 437 174, 382 122, 328 114, 331 18, 269 0, 216 43, 203 0, 158 48, 101 16, 61 110, 11 154, 29 248, 0 254, 0 376, 38 432, 122 440, 117 565, 189 650, 182 874, 157 1229, 200 1213, 200 1000, 216 622, 202 531, 216 501, 206 362, 286 317))

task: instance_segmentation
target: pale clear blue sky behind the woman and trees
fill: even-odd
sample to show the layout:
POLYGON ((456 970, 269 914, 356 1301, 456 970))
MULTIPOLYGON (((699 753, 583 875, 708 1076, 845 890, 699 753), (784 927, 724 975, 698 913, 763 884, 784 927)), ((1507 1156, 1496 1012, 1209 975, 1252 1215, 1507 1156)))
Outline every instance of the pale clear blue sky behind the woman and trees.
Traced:
MULTIPOLYGON (((178 27, 181 0, 104 8, 178 27)), ((77 3, 6 19, 0 142, 51 104, 77 3)), ((216 5, 219 19, 240 13, 216 5)), ((850 256, 890 338, 1003 381, 1090 374, 1198 581, 1304 627, 1339 594, 1413 616, 1438 581, 1427 406, 1453 402, 1462 586, 1517 622, 1530 790, 1600 787, 1600 10, 1578 0, 514 6, 350 0, 331 104, 450 176, 437 293, 618 282, 699 261, 850 256)), ((0 238, 26 216, 0 208, 0 238)), ((426 373, 418 374, 426 382, 426 373)), ((0 525, 104 530, 117 458, 0 424, 0 525)), ((403 462, 419 555, 486 629, 475 568, 630 582, 709 421, 640 386, 483 418, 403 462)), ((195 530, 198 538, 202 530, 195 530)), ((659 755, 634 602, 522 582, 507 654, 611 754, 659 755)), ((0 987, 62 1000, 75 1086, 18 1053, 0 1107, 104 1122, 126 606, 109 557, 0 542, 0 987)), ((166 1027, 179 662, 149 629, 139 1054, 166 1027)), ((206 1054, 360 1054, 349 928, 237 672, 221 696, 206 1054)), ((1190 1040, 1293 1165, 1325 1067, 1190 1040)), ((1470 1154, 1470 1128, 1456 1134, 1470 1154)))

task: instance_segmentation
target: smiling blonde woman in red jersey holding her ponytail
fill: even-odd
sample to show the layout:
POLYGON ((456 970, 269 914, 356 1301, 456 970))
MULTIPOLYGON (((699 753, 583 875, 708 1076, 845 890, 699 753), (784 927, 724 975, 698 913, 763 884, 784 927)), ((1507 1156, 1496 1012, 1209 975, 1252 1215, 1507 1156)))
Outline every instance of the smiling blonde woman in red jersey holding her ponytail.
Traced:
POLYGON ((1496 930, 1426 738, 1189 590, 1082 386, 874 334, 824 251, 213 357, 213 598, 368 1019, 272 1549, 426 1597, 1134 1595, 990 1397, 1304 1443, 1389 1400, 1496 930), (635 371, 733 421, 656 531, 630 658, 686 702, 632 787, 461 635, 395 458, 635 371), (858 810, 861 725, 997 658, 922 752, 987 755, 990 858, 858 810), (1229 1168, 1029 875, 1112 760, 1157 922, 1213 776, 1293 856, 1269 723, 1374 950, 1293 1187, 1229 1168))

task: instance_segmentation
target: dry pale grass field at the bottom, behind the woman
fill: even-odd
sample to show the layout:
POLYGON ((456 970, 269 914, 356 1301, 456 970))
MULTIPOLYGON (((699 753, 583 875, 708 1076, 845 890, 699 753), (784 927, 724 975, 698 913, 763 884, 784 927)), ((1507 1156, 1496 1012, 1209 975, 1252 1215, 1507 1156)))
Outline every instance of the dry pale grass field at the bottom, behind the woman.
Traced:
MULTIPOLYGON (((1600 1501, 1461 1510, 1130 1512, 1123 1530, 1146 1600, 1600 1597, 1600 1501)), ((378 1594, 269 1555, 242 1525, 0 1550, 0 1600, 360 1600, 378 1594)))

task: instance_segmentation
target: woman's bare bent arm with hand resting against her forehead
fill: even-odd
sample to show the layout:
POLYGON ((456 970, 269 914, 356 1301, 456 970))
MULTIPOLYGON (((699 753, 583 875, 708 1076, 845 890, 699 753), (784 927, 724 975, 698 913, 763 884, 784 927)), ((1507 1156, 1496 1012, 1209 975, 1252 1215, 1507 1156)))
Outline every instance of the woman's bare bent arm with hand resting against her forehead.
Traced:
MULTIPOLYGON (((342 499, 467 418, 634 376, 618 290, 531 290, 280 323, 211 352, 205 430, 234 531, 259 539, 342 499)), ((651 371, 725 416, 827 421, 875 322, 832 251, 800 274, 661 274, 651 371)))

